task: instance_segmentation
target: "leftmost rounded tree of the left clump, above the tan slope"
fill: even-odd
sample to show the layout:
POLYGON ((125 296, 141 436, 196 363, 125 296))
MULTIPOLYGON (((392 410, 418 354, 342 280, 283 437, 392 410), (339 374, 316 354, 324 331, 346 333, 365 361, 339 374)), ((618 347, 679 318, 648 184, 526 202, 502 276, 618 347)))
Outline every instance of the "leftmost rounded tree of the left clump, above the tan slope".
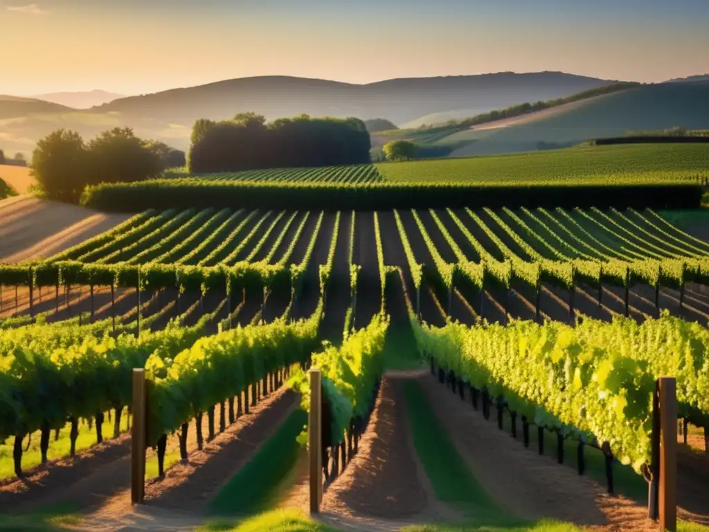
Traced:
POLYGON ((49 199, 77 202, 87 179, 87 151, 76 131, 58 129, 38 140, 32 174, 49 199))

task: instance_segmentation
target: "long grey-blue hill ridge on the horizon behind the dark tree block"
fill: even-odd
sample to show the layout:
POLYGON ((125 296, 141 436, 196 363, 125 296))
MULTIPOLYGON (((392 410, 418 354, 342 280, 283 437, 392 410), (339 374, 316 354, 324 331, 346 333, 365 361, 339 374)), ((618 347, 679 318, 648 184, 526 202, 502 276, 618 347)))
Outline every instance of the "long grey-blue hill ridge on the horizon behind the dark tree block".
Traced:
POLYGON ((285 76, 248 77, 131 96, 93 111, 118 111, 125 116, 190 125, 197 118, 228 118, 244 111, 255 111, 269 120, 306 113, 362 120, 386 116, 403 124, 430 113, 455 109, 483 113, 523 101, 569 96, 604 84, 608 80, 563 72, 389 79, 365 85, 285 76))

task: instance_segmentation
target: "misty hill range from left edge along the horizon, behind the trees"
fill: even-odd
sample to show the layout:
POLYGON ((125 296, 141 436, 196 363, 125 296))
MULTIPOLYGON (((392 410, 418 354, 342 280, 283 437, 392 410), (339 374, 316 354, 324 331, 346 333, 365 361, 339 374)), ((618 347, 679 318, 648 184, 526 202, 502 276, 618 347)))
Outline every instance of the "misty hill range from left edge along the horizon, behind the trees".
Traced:
POLYGON ((250 77, 130 96, 86 110, 0 96, 0 147, 29 156, 38 138, 57 128, 74 129, 91 138, 108 128, 132 127, 143 138, 186 150, 197 118, 223 119, 255 111, 269 119, 307 113, 386 118, 396 124, 450 109, 489 111, 520 101, 568 96, 607 83, 562 72, 390 79, 366 85, 250 77))

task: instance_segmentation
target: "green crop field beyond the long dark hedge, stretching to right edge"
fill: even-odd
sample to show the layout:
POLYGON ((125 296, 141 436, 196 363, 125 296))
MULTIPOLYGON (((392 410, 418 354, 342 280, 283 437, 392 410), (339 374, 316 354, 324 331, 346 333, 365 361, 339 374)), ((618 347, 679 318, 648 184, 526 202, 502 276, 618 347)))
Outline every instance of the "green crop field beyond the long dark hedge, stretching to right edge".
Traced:
MULTIPOLYGON (((479 132, 471 131, 471 134, 479 132)), ((465 134, 465 133, 461 133, 465 134)), ((709 177, 709 144, 633 144, 481 157, 376 163, 372 166, 247 170, 203 174, 208 181, 474 182, 476 184, 652 184, 709 177)))

